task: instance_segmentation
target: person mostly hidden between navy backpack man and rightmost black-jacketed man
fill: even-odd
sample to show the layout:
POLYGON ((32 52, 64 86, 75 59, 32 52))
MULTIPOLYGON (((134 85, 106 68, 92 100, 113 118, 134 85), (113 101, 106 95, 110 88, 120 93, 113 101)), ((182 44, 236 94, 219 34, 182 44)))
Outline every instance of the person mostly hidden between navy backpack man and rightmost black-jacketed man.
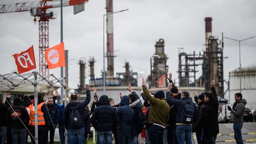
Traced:
MULTIPOLYGON (((198 97, 197 97, 197 91, 194 91, 194 101, 196 101, 198 107, 197 107, 197 111, 199 112, 199 117, 202 114, 202 110, 204 108, 204 92, 201 93, 198 97)), ((197 121, 195 121, 195 123, 197 123, 197 121)), ((206 143, 206 141, 203 138, 202 135, 202 128, 197 126, 197 124, 193 125, 194 127, 194 132, 196 132, 196 137, 197 137, 197 143, 199 144, 203 144, 206 143)))

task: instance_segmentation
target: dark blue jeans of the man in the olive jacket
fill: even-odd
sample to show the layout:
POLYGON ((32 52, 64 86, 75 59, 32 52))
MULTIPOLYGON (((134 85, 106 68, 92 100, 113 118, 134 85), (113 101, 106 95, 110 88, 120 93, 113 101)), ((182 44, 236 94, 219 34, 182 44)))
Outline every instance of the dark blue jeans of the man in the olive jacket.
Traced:
POLYGON ((163 143, 164 127, 152 124, 149 127, 149 136, 152 144, 163 143))

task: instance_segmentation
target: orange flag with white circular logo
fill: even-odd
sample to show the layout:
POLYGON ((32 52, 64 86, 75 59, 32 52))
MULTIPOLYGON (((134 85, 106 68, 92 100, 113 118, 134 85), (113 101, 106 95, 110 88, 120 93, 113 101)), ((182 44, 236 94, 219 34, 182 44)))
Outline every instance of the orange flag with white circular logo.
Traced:
POLYGON ((46 61, 49 69, 65 65, 64 43, 57 44, 46 50, 46 61))

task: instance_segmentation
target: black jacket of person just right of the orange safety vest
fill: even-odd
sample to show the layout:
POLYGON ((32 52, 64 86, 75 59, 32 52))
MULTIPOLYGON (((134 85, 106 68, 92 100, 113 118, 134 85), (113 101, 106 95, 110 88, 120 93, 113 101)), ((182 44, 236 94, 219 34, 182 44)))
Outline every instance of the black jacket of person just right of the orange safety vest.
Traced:
POLYGON ((55 104, 53 105, 47 104, 47 109, 50 114, 50 117, 49 117, 50 120, 47 120, 47 121, 50 121, 50 126, 56 126, 59 120, 59 110, 57 106, 55 104))

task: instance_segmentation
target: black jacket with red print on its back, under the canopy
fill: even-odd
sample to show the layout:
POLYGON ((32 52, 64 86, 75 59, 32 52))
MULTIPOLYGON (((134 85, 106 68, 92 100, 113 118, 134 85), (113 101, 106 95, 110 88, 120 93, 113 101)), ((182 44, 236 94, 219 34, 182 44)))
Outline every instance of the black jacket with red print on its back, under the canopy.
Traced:
POLYGON ((27 109, 23 105, 13 105, 12 108, 10 107, 7 112, 7 120, 11 123, 11 127, 15 129, 25 129, 25 126, 28 126, 30 120, 27 109), (18 117, 20 117, 25 126, 18 117))

